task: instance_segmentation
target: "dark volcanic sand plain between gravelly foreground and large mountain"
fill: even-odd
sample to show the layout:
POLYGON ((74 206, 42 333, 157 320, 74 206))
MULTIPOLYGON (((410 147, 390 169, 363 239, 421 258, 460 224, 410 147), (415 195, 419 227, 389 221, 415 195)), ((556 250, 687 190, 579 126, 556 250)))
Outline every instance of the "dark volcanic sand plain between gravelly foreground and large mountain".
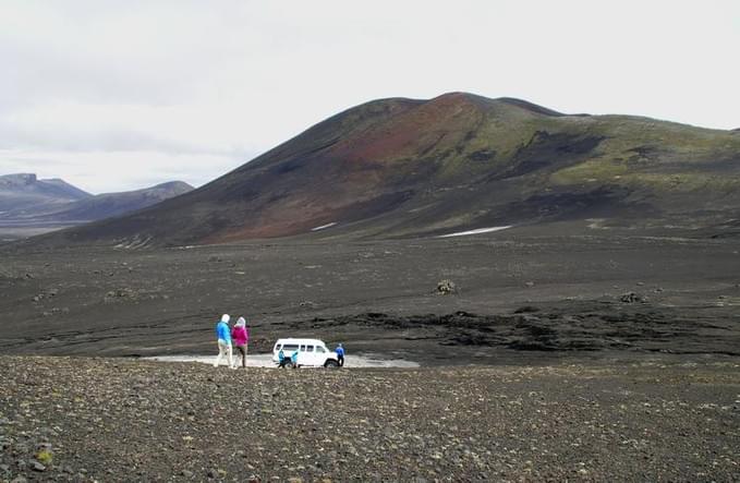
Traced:
POLYGON ((315 336, 423 364, 740 353, 740 242, 550 226, 458 239, 0 253, 0 351, 209 354, 315 336), (452 280, 454 294, 436 291, 452 280), (633 293, 622 301, 624 294, 633 293))

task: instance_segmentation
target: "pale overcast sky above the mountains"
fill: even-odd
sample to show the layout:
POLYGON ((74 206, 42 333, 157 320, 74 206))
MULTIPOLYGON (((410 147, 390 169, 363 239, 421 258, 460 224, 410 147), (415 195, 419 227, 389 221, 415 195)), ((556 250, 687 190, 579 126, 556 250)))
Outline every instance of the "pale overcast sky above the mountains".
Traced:
POLYGON ((202 185, 447 92, 740 128, 740 1, 0 0, 0 174, 202 185))

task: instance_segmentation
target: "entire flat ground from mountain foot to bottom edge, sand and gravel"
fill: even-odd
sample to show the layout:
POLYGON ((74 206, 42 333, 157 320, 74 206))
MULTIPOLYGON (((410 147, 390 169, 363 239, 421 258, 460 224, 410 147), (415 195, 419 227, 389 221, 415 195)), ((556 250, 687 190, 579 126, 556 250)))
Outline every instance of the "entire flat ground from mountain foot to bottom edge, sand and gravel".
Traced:
POLYGON ((567 225, 5 245, 0 479, 737 481, 739 247, 567 225), (422 367, 137 359, 213 353, 221 313, 252 353, 315 336, 422 367))

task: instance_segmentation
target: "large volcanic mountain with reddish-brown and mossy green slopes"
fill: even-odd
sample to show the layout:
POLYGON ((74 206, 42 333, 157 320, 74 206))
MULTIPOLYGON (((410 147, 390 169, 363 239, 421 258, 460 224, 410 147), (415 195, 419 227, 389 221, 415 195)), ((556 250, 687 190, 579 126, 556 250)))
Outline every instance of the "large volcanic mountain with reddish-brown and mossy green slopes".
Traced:
POLYGON ((182 196, 54 233, 125 245, 396 238, 551 220, 718 226, 740 208, 740 137, 451 93, 371 101, 182 196))

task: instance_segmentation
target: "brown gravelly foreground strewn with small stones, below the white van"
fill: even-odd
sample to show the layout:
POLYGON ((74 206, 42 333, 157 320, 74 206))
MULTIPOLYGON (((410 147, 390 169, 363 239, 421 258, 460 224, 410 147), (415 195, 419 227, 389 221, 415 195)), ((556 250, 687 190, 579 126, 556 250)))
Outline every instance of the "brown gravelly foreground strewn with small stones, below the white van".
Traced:
POLYGON ((1 481, 738 481, 740 362, 0 357, 1 481))

